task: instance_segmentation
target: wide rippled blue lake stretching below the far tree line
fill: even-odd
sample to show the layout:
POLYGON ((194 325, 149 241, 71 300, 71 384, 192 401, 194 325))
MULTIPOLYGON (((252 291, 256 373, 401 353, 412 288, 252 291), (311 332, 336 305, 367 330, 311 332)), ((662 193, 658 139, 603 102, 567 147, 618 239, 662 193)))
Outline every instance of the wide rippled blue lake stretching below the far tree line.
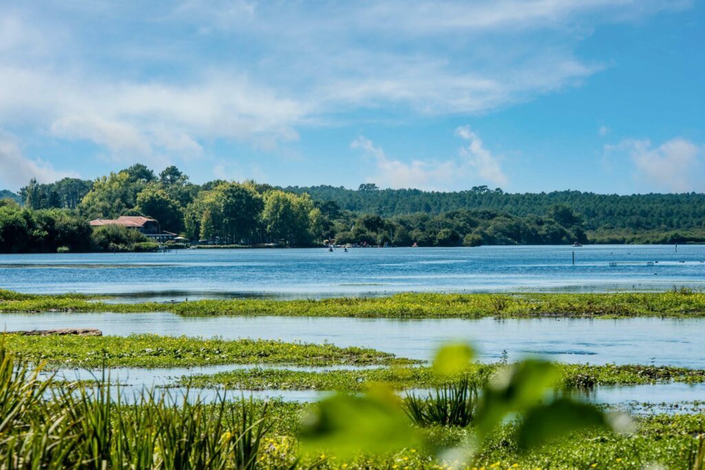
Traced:
POLYGON ((682 245, 678 251, 673 245, 599 245, 0 255, 0 288, 123 294, 123 299, 654 290, 673 285, 705 287, 705 245, 682 245))

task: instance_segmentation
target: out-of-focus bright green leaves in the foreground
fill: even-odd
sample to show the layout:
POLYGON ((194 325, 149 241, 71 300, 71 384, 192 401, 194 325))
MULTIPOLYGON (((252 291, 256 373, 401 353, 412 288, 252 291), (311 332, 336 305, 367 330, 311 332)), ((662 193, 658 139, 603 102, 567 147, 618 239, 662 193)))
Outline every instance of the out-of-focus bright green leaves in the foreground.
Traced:
POLYGON ((548 361, 527 359, 501 367, 477 392, 467 380, 473 356, 467 345, 442 347, 433 370, 445 381, 457 381, 436 388, 425 400, 414 395, 399 400, 378 388, 363 396, 338 394, 319 402, 305 423, 302 449, 341 459, 386 454, 424 445, 418 426, 472 423, 472 439, 450 451, 469 463, 485 440, 511 420, 517 421, 517 444, 525 450, 575 431, 617 428, 618 420, 597 407, 560 394, 560 370, 548 361))

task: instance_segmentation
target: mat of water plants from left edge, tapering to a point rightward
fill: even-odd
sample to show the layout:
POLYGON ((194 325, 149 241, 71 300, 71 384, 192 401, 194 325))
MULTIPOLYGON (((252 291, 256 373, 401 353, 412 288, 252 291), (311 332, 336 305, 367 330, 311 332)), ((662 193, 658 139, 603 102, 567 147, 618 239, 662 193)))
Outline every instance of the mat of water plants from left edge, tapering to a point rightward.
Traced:
POLYGON ((50 368, 177 367, 215 364, 413 364, 393 354, 361 347, 328 343, 276 340, 222 340, 152 334, 121 336, 47 335, 5 333, 8 350, 24 361, 50 368))

